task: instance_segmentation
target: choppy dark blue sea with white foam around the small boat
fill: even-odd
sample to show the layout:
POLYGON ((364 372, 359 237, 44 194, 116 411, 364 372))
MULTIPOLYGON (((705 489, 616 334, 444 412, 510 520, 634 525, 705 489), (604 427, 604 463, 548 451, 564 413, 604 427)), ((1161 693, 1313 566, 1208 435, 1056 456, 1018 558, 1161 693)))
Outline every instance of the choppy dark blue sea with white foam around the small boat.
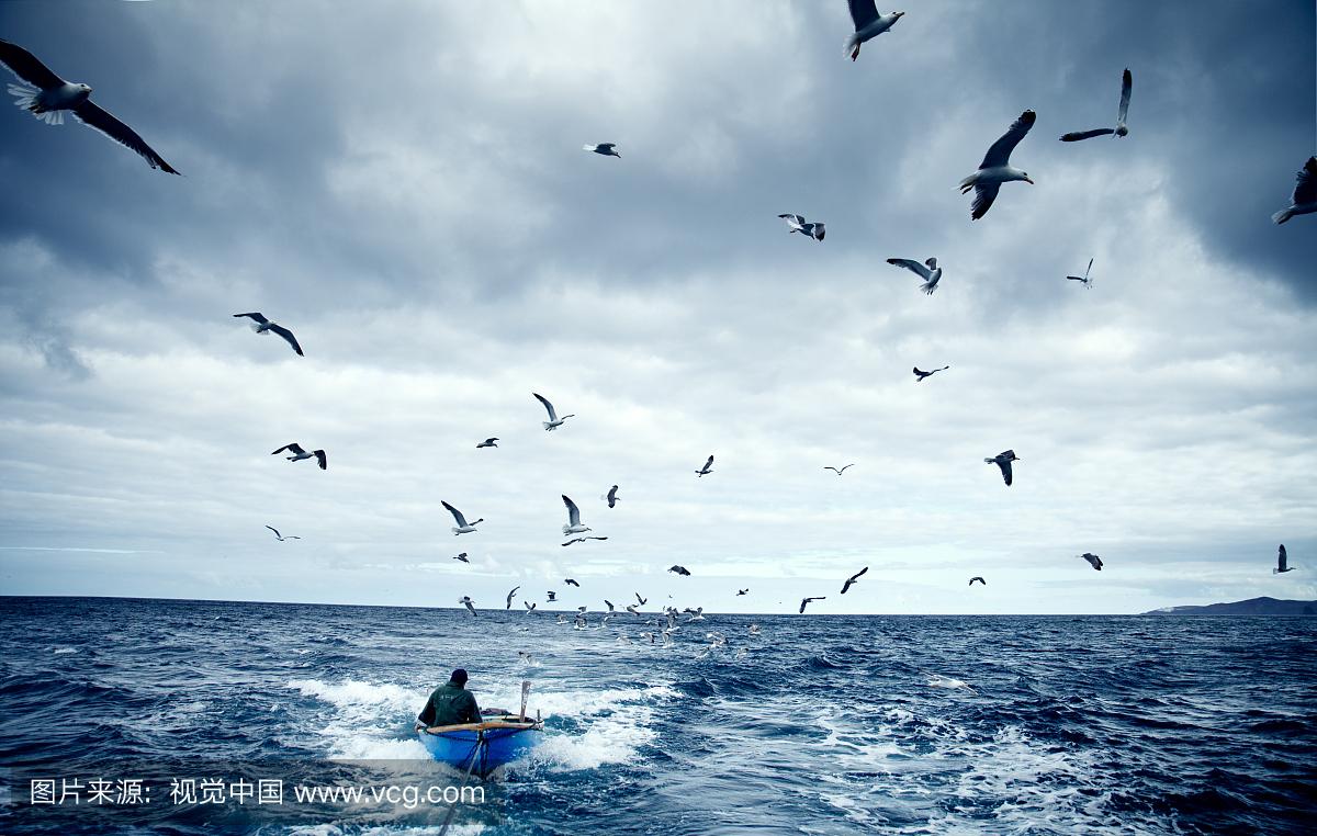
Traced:
POLYGON ((548 731, 450 833, 1310 833, 1317 820, 1317 619, 715 615, 668 648, 619 641, 639 641, 637 620, 0 598, 0 832, 437 833, 443 804, 202 806, 157 787, 140 807, 33 806, 30 779, 457 785, 411 731, 457 665, 482 706, 515 710, 532 679, 548 731), (728 648, 706 653, 709 631, 728 648))

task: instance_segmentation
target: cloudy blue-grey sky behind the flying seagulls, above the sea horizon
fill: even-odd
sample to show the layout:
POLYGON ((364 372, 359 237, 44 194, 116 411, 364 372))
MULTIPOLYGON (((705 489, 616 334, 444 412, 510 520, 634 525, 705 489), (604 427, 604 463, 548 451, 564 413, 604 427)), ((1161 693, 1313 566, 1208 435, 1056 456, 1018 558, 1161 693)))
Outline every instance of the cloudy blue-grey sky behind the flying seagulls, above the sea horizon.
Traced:
POLYGON ((0 4, 183 172, 0 111, 0 592, 1317 598, 1317 216, 1270 220, 1317 151, 1314 5, 906 11, 852 63, 840 0, 0 4), (1130 134, 1058 142, 1125 67, 1130 134), (1026 108, 1035 184, 972 221, 1026 108), (931 296, 884 261, 930 255, 931 296), (560 545, 562 494, 607 541, 560 545))

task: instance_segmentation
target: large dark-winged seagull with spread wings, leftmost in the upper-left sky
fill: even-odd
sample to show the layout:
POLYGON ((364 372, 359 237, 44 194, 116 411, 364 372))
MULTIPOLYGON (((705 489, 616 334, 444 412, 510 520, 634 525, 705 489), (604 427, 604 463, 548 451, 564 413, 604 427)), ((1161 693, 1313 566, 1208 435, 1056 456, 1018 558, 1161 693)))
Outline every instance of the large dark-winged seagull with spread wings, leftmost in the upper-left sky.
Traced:
POLYGON ((14 104, 41 121, 47 125, 63 125, 63 112, 68 111, 88 128, 95 128, 124 147, 137 151, 151 169, 159 169, 166 174, 178 174, 173 166, 165 162, 163 157, 155 153, 155 149, 137 136, 136 130, 94 103, 91 87, 63 80, 41 63, 36 55, 17 43, 4 39, 0 39, 0 65, 4 65, 21 82, 21 84, 9 84, 9 95, 14 97, 14 104))

